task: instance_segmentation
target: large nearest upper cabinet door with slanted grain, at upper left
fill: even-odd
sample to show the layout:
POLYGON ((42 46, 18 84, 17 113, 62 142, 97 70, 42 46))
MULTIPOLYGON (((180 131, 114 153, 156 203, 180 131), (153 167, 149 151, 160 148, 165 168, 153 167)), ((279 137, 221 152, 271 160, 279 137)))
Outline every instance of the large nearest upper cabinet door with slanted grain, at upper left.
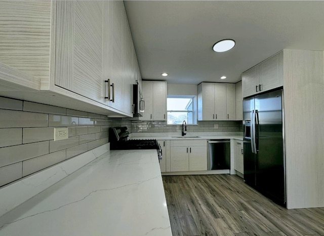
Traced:
POLYGON ((104 103, 102 1, 58 1, 55 84, 104 103))

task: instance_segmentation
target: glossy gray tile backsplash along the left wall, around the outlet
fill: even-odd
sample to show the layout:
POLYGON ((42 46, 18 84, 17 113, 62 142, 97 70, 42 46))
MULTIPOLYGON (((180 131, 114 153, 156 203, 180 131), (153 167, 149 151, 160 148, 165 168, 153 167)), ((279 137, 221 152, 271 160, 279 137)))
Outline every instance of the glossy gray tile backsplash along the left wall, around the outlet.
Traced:
POLYGON ((128 126, 131 132, 131 124, 102 114, 0 97, 0 186, 107 143, 110 127, 128 126), (68 127, 69 138, 54 141, 54 127, 68 127))

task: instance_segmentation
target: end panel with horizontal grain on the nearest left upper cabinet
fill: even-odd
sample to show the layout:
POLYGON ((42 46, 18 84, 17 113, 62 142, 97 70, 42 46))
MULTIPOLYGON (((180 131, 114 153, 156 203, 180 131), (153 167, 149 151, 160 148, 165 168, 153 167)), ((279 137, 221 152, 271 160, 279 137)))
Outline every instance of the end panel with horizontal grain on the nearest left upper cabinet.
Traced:
POLYGON ((49 80, 51 10, 51 1, 0 1, 0 95, 49 80))

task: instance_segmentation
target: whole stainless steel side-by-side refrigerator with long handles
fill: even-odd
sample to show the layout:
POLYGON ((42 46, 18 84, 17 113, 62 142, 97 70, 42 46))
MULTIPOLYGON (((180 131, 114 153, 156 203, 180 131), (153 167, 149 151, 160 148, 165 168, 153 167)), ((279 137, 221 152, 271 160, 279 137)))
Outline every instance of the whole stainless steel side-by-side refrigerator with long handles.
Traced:
POLYGON ((245 98, 244 181, 273 202, 286 205, 282 89, 245 98))

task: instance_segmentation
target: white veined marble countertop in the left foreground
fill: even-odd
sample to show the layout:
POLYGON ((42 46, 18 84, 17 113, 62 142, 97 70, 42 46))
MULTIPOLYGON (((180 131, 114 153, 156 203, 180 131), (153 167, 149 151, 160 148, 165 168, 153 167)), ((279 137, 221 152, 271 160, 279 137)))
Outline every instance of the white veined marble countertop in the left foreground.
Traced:
POLYGON ((106 152, 0 217, 0 235, 172 235, 156 150, 106 152))

